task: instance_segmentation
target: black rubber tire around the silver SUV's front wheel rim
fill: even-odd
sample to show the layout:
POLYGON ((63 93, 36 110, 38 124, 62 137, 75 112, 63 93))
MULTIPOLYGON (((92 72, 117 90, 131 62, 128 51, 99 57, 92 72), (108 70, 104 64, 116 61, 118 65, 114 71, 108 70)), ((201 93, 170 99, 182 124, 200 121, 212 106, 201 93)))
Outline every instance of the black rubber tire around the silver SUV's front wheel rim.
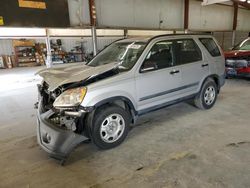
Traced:
MULTIPOLYGON (((114 122, 115 122, 115 119, 114 119, 114 122)), ((118 123, 118 122, 116 122, 116 123, 118 123)), ((102 107, 100 109, 97 109, 95 116, 94 116, 94 119, 93 119, 93 124, 92 124, 92 129, 91 129, 92 141, 100 149, 114 148, 114 147, 120 145, 125 140, 125 138, 128 134, 128 131, 129 131, 129 124, 130 124, 129 113, 119 106, 106 106, 106 107, 102 107), (116 114, 117 117, 123 119, 122 125, 124 125, 124 129, 122 129, 123 131, 117 129, 118 130, 117 135, 119 135, 119 131, 121 131, 120 135, 117 136, 117 140, 105 141, 103 138, 103 134, 104 133, 108 134, 108 133, 105 131, 101 132, 101 127, 105 127, 105 126, 109 125, 109 124, 107 124, 105 126, 102 126, 105 123, 104 120, 106 120, 108 117, 109 118, 115 117, 115 116, 111 116, 112 114, 113 115, 116 114), (101 134, 102 134, 102 136, 101 136, 101 134)))

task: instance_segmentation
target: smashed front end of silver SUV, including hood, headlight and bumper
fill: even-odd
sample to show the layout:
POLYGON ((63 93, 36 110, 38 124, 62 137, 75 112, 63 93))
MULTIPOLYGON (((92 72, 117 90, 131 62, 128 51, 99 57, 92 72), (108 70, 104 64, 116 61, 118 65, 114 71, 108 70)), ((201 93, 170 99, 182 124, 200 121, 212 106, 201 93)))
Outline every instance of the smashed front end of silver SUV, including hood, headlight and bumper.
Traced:
POLYGON ((62 66, 37 73, 43 78, 36 104, 37 139, 51 157, 64 160, 78 144, 89 139, 85 129, 90 123, 86 121, 94 108, 81 106, 87 85, 118 74, 116 66, 62 66))

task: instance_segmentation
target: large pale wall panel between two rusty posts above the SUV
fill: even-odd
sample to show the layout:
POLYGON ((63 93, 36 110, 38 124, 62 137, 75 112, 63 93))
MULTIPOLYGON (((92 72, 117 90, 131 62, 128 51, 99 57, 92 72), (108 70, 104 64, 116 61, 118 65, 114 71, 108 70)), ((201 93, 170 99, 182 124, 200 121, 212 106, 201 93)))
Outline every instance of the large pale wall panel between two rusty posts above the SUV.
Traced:
POLYGON ((183 0, 96 0, 100 26, 182 28, 183 8, 183 0))

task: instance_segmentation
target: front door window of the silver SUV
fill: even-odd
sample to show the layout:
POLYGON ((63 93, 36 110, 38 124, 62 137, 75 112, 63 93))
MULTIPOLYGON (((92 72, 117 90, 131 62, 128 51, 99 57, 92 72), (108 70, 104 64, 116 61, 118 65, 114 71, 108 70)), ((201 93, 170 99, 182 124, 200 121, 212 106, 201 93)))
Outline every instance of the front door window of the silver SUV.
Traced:
POLYGON ((173 64, 173 41, 160 41, 151 48, 141 69, 158 70, 171 67, 173 64))

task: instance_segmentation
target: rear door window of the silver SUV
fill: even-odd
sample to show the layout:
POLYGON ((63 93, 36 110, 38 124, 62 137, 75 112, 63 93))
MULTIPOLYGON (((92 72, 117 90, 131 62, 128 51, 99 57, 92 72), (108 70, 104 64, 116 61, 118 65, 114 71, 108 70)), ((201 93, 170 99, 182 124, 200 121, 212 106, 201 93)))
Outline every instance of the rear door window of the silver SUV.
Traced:
POLYGON ((176 64, 182 65, 202 60, 201 50, 193 39, 176 40, 176 64))

